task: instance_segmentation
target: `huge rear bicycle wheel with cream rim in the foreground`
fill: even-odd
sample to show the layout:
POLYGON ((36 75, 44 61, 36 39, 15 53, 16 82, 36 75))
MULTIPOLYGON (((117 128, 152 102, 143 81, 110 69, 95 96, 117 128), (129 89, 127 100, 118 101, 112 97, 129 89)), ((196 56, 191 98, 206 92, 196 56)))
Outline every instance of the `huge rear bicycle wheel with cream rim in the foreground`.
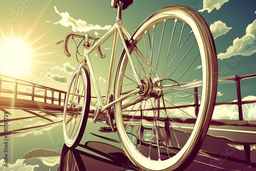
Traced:
POLYGON ((182 170, 197 155, 214 110, 218 66, 211 32, 196 11, 166 7, 139 26, 129 51, 132 60, 123 51, 119 61, 115 98, 140 91, 115 104, 124 152, 143 170, 182 170))

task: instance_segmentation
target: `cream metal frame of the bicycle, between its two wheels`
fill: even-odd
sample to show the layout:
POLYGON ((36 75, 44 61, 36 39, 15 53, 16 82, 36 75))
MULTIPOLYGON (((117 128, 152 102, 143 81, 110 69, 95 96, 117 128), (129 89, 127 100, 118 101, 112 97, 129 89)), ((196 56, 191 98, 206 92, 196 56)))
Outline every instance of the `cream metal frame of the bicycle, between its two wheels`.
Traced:
MULTIPOLYGON (((110 108, 114 103, 116 103, 117 101, 120 101, 120 100, 123 100, 131 95, 134 95, 136 93, 139 92, 139 88, 140 88, 140 85, 141 85, 141 81, 138 77, 138 74, 136 73, 135 71, 135 68, 133 66, 133 62, 132 62, 132 59, 131 59, 131 56, 130 56, 130 53, 129 53, 129 50, 125 44, 125 38, 126 37, 127 39, 131 39, 131 35, 130 33, 127 31, 127 29, 124 27, 124 25, 122 24, 121 22, 121 7, 118 7, 118 12, 117 12, 117 18, 116 18, 116 23, 111 27, 111 29, 106 32, 101 38, 99 38, 94 45, 92 45, 90 47, 90 44, 89 44, 89 39, 95 39, 94 36, 90 36, 89 34, 86 34, 84 35, 84 48, 83 48, 83 59, 82 59, 82 62, 80 63, 79 67, 78 67, 78 71, 77 73, 79 73, 81 71, 81 68, 83 66, 88 66, 89 68, 89 72, 90 72, 90 75, 91 75, 91 79, 92 79, 92 83, 93 83, 93 86, 94 86, 94 89, 95 89, 95 93, 96 93, 96 96, 97 96, 97 100, 99 102, 99 108, 97 108, 98 110, 96 110, 98 112, 98 114, 108 108, 110 108), (102 100, 102 96, 101 96, 101 92, 100 92, 100 89, 99 89, 99 85, 98 85, 98 81, 97 81, 97 78, 95 76, 95 72, 94 72, 94 69, 93 69, 93 66, 92 66, 92 63, 91 63, 91 59, 90 59, 90 54, 95 51, 97 48, 100 47, 100 45, 103 44, 103 42, 105 40, 107 40, 108 38, 110 38, 110 36, 112 36, 114 34, 114 40, 113 40, 113 47, 112 47, 112 53, 111 53, 111 61, 110 61, 110 69, 109 69, 109 76, 108 76, 108 83, 107 83, 107 86, 106 86, 106 94, 105 94, 105 101, 103 102, 102 100), (115 58, 116 58, 116 50, 117 50, 117 43, 118 43, 118 36, 120 36, 120 39, 122 41, 122 45, 124 47, 124 50, 127 54, 127 57, 129 58, 129 61, 131 63, 131 68, 132 68, 132 72, 133 72, 133 75, 138 83, 138 86, 137 86, 137 89, 135 89, 134 91, 118 98, 118 99, 115 99, 114 101, 110 102, 110 90, 111 90, 111 84, 112 84, 112 79, 113 79, 113 71, 114 71, 114 63, 115 63, 115 58)), ((78 80, 78 77, 76 77, 76 82, 78 80)), ((95 112, 96 112, 95 111, 95 112)), ((95 121, 96 122, 96 121, 95 121)))

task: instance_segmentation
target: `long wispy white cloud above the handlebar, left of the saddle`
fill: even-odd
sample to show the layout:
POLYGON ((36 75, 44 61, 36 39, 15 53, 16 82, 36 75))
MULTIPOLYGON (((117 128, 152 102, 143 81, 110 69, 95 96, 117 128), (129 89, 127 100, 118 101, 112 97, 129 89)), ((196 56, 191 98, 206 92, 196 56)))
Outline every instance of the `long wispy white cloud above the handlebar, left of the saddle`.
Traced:
POLYGON ((109 30, 111 28, 110 25, 101 27, 99 25, 88 24, 84 20, 72 18, 68 12, 59 12, 57 10, 56 6, 54 6, 54 9, 55 9, 55 12, 61 16, 61 19, 54 24, 55 25, 60 24, 61 26, 64 26, 64 27, 71 26, 72 30, 74 32, 78 32, 78 31, 79 32, 88 32, 91 30, 109 30))

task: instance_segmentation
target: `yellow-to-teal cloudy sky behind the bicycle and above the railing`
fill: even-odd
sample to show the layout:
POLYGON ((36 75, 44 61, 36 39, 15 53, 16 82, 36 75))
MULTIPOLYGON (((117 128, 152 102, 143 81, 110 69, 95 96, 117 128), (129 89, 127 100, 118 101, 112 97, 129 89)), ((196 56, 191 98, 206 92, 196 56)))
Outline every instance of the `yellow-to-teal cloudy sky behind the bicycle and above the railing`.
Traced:
MULTIPOLYGON (((0 60, 2 60, 0 75, 63 91, 67 90, 78 62, 74 42, 70 41, 69 45, 71 57, 67 57, 63 53, 62 44, 56 45, 56 42, 63 39, 68 32, 101 36, 115 23, 116 17, 116 9, 110 7, 111 1, 0 0, 0 2, 0 60), (6 46, 6 41, 13 38, 19 39, 28 47, 26 52, 30 54, 26 55, 30 56, 28 59, 23 60, 23 54, 18 51, 18 46, 15 44, 6 46), (12 62, 7 61, 8 64, 3 65, 4 60, 9 59, 4 56, 6 50, 7 54, 19 52, 16 56, 20 58, 12 59, 12 62)), ((206 20, 215 39, 219 78, 256 73, 256 2, 254 0, 139 0, 122 12, 122 22, 132 34, 147 16, 170 5, 194 8, 206 20)), ((107 56, 104 59, 92 53, 94 70, 102 92, 105 91, 108 78, 106 71, 108 71, 111 48, 111 41, 106 41, 102 45, 102 51, 107 56)), ((117 56, 120 53, 119 46, 117 56)), ((256 78, 241 81, 242 98, 256 98, 253 89, 255 83, 256 78)), ((234 81, 218 83, 217 101, 233 100, 237 100, 236 83, 234 81)))

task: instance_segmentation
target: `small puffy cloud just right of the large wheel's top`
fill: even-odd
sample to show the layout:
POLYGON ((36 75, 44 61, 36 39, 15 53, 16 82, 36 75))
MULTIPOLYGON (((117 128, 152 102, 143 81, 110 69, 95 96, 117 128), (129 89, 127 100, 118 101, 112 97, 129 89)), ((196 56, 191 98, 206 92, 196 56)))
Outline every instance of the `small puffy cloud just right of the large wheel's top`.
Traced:
POLYGON ((225 23, 222 23, 221 21, 214 22, 214 24, 210 25, 210 31, 212 33, 212 36, 214 39, 217 37, 226 34, 231 27, 227 27, 225 23))

